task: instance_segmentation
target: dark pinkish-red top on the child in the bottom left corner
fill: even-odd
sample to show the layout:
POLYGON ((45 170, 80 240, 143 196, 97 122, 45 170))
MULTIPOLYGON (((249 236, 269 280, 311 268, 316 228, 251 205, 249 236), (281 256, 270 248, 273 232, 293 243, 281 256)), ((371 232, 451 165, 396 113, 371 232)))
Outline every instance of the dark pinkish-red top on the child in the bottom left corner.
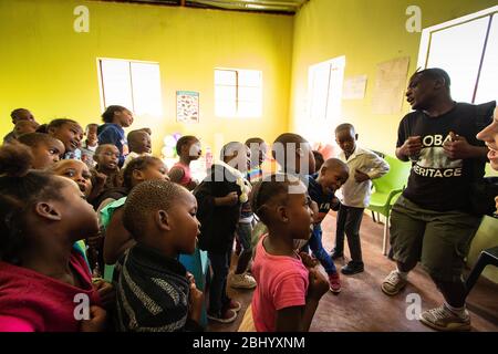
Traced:
POLYGON ((80 275, 82 289, 0 261, 0 332, 77 332, 74 310, 82 301, 74 302, 75 295, 87 295, 90 305, 101 302, 77 251, 73 250, 70 264, 80 275))

